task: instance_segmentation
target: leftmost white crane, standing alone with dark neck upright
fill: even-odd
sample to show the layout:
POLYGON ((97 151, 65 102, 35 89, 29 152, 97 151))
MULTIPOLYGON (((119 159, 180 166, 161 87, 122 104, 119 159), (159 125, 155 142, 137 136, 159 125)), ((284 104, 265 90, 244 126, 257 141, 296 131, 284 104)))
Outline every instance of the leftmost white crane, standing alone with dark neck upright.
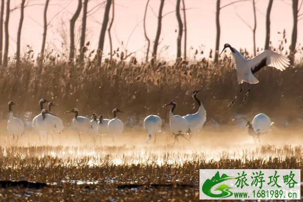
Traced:
POLYGON ((12 101, 8 103, 9 106, 9 120, 7 124, 7 129, 9 134, 13 135, 13 139, 15 139, 15 135, 17 135, 17 141, 18 142, 18 137, 19 135, 22 135, 24 132, 24 123, 21 119, 18 119, 14 117, 13 111, 12 111, 12 106, 16 105, 12 101))

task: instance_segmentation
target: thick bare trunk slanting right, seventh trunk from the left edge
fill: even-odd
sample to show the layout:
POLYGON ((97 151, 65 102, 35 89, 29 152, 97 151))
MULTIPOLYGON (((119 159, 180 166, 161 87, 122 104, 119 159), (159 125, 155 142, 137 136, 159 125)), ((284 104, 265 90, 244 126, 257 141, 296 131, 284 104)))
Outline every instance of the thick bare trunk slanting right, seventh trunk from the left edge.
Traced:
POLYGON ((105 6, 105 12, 103 17, 103 23, 100 31, 99 36, 99 43, 98 43, 98 64, 101 64, 102 61, 102 55, 103 55, 103 48, 104 48, 104 40, 105 40, 105 33, 106 29, 109 23, 109 16, 110 16, 110 9, 112 5, 112 0, 107 0, 106 6, 105 6))

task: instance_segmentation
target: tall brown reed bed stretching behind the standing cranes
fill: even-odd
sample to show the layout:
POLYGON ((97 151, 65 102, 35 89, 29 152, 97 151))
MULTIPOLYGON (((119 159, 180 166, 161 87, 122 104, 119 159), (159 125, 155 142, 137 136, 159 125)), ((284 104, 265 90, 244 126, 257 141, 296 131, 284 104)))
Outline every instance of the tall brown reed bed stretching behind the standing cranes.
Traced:
MULTIPOLYGON (((283 50, 278 49, 278 52, 283 50)), ((242 50, 245 57, 251 57, 242 50)), ((284 53, 284 52, 283 52, 284 53)), ((301 52, 298 52, 301 56, 301 52)), ((38 59, 37 59, 38 60, 38 59)), ((238 84, 232 59, 224 56, 218 65, 209 59, 179 61, 168 64, 152 60, 139 64, 132 58, 128 62, 116 57, 106 59, 98 66, 93 54, 87 53, 84 63, 67 62, 64 55, 48 53, 43 65, 33 60, 29 51, 20 68, 11 61, 8 69, 0 71, 1 112, 7 111, 8 100, 20 106, 15 111, 38 113, 36 103, 41 97, 53 99, 59 105, 57 112, 77 107, 80 113, 102 113, 110 116, 115 107, 140 118, 150 113, 167 116, 162 105, 172 100, 178 104, 177 114, 195 111, 190 94, 202 89, 201 97, 209 118, 219 122, 230 119, 232 113, 262 111, 272 116, 283 114, 285 119, 300 117, 303 107, 301 86, 303 68, 288 68, 279 72, 265 68, 258 72, 260 83, 252 86, 251 93, 242 103, 228 109, 238 84), (89 57, 89 55, 91 55, 89 57), (16 76, 18 75, 18 76, 16 76), (258 101, 257 101, 258 100, 258 101)))

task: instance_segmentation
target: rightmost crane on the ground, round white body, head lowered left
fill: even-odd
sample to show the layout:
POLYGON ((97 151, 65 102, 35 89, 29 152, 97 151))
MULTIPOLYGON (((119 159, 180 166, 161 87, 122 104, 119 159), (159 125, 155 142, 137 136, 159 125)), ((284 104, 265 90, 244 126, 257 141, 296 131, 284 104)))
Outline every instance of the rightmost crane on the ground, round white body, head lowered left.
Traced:
POLYGON ((252 123, 248 121, 246 126, 248 126, 248 134, 254 137, 255 142, 258 138, 260 143, 260 135, 268 132, 273 124, 274 122, 272 122, 266 114, 261 113, 252 119, 252 123))

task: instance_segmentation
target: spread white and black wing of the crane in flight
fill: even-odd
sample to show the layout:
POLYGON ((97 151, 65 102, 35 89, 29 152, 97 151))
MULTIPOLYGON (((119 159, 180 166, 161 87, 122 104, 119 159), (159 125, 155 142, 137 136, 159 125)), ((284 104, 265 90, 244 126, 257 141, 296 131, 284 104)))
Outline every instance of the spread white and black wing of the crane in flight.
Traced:
POLYGON ((250 59, 249 64, 252 74, 255 74, 265 66, 274 67, 283 71, 290 65, 286 57, 271 50, 266 50, 255 58, 250 59))

